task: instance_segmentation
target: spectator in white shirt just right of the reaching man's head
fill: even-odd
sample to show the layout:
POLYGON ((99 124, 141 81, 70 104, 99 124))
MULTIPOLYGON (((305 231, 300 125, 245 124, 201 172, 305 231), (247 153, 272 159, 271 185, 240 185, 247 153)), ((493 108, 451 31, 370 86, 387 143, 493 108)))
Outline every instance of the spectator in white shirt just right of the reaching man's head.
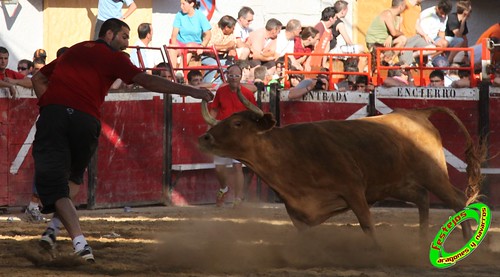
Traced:
MULTIPOLYGON (((134 46, 138 47, 149 47, 149 44, 153 40, 153 25, 151 23, 141 23, 139 27, 137 27, 137 34, 139 35, 139 39, 136 41, 134 46)), ((142 69, 148 68, 146 72, 151 74, 151 68, 154 67, 155 63, 153 60, 153 53, 148 49, 137 49, 133 48, 130 51, 130 60, 132 63, 142 69), (139 61, 139 54, 141 54, 141 61, 139 61)))

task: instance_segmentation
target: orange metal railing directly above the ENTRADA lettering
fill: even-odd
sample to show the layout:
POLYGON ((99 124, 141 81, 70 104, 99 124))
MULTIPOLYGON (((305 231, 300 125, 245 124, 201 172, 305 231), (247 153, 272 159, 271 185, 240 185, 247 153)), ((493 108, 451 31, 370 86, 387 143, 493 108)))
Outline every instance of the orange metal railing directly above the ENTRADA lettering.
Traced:
MULTIPOLYGON (((288 80, 288 76, 291 74, 324 74, 328 75, 328 84, 329 84, 329 89, 334 88, 334 84, 337 83, 339 80, 338 78, 335 78, 334 75, 365 75, 368 77, 368 80, 371 79, 371 62, 372 62, 372 57, 369 53, 363 53, 363 54, 332 54, 332 53, 287 53, 285 54, 285 72, 284 72, 284 77, 285 80, 288 80), (295 56, 295 55, 302 55, 302 56, 321 56, 321 57, 328 57, 328 71, 320 71, 320 70, 311 70, 311 71, 304 71, 304 70, 289 70, 289 62, 288 62, 288 57, 289 56, 295 56), (336 70, 334 68, 334 61, 337 60, 342 60, 343 58, 352 58, 352 57, 365 57, 367 60, 367 66, 368 66, 368 71, 367 72, 346 72, 344 69, 342 70, 336 70)), ((289 83, 285 82, 286 88, 289 88, 289 83)))

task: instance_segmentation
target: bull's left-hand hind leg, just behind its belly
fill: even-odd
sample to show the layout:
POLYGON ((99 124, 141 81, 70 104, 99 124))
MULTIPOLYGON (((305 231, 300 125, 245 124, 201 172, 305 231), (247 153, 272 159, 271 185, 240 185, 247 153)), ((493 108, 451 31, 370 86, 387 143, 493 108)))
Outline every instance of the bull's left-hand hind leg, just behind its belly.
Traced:
POLYGON ((394 191, 391 196, 417 205, 420 239, 426 241, 429 231, 429 193, 427 189, 417 185, 409 185, 394 191))

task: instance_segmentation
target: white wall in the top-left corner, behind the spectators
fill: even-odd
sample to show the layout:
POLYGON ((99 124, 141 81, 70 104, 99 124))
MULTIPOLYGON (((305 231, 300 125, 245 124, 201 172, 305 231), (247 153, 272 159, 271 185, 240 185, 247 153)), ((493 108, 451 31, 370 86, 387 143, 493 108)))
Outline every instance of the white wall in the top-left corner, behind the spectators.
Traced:
POLYGON ((19 0, 17 5, 0 2, 0 46, 9 50, 8 68, 17 69, 21 59, 31 60, 43 48, 42 0, 19 0))

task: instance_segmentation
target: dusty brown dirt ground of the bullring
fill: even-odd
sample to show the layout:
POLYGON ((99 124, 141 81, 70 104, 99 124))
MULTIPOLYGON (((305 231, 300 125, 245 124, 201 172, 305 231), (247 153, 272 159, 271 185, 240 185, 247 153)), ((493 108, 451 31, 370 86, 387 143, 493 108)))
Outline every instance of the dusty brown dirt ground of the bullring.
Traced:
MULTIPOLYGON (((429 245, 453 215, 432 209, 429 238, 419 240, 416 208, 372 208, 381 250, 371 247, 351 212, 306 232, 283 204, 80 210, 95 264, 72 257, 65 231, 57 256, 40 252, 45 224, 0 215, 0 276, 499 276, 500 212, 479 249, 448 269, 429 262, 429 245)), ((455 230, 446 250, 463 244, 455 230)), ((453 249, 456 247, 456 249, 453 249)))

